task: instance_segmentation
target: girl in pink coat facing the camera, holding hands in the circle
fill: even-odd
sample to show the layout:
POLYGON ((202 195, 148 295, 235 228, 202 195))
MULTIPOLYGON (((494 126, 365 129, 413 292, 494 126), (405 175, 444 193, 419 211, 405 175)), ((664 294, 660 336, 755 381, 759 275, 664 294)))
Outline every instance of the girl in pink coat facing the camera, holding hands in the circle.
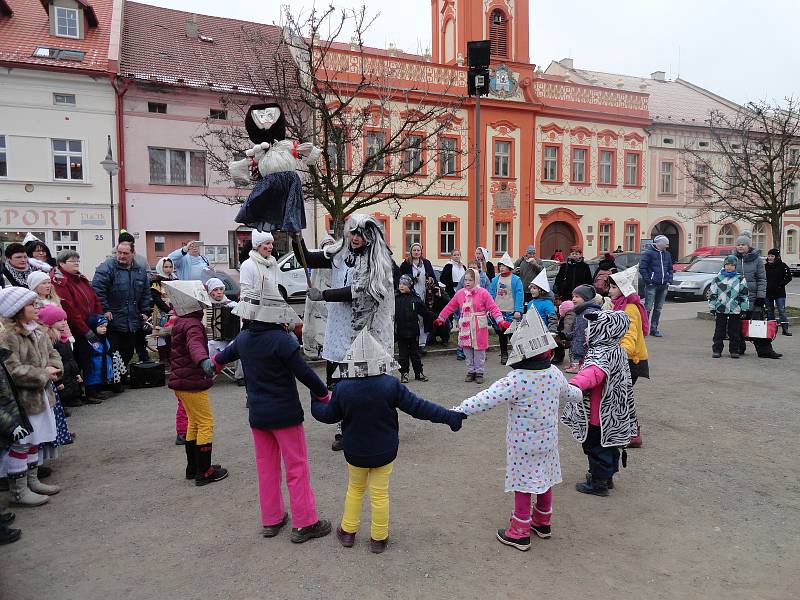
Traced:
POLYGON ((483 383, 486 349, 489 347, 488 315, 495 318, 502 331, 508 329, 510 323, 503 319, 503 313, 492 295, 480 287, 479 281, 477 270, 467 269, 464 273, 464 287, 447 303, 434 325, 441 327, 456 310, 461 311, 458 320, 458 345, 463 348, 467 357, 467 376, 464 381, 480 384, 483 383))

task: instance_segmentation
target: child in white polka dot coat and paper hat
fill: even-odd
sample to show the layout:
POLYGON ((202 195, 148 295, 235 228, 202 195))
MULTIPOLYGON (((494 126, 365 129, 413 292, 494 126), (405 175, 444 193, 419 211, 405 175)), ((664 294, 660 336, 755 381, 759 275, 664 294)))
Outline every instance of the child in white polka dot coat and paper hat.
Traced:
POLYGON ((505 491, 514 492, 514 512, 508 527, 497 531, 497 540, 524 551, 531 545, 531 529, 540 538, 550 537, 552 488, 561 483, 558 405, 562 399, 579 400, 581 393, 550 364, 557 344, 535 310, 515 329, 508 359, 512 371, 454 410, 474 415, 508 406, 505 491))

